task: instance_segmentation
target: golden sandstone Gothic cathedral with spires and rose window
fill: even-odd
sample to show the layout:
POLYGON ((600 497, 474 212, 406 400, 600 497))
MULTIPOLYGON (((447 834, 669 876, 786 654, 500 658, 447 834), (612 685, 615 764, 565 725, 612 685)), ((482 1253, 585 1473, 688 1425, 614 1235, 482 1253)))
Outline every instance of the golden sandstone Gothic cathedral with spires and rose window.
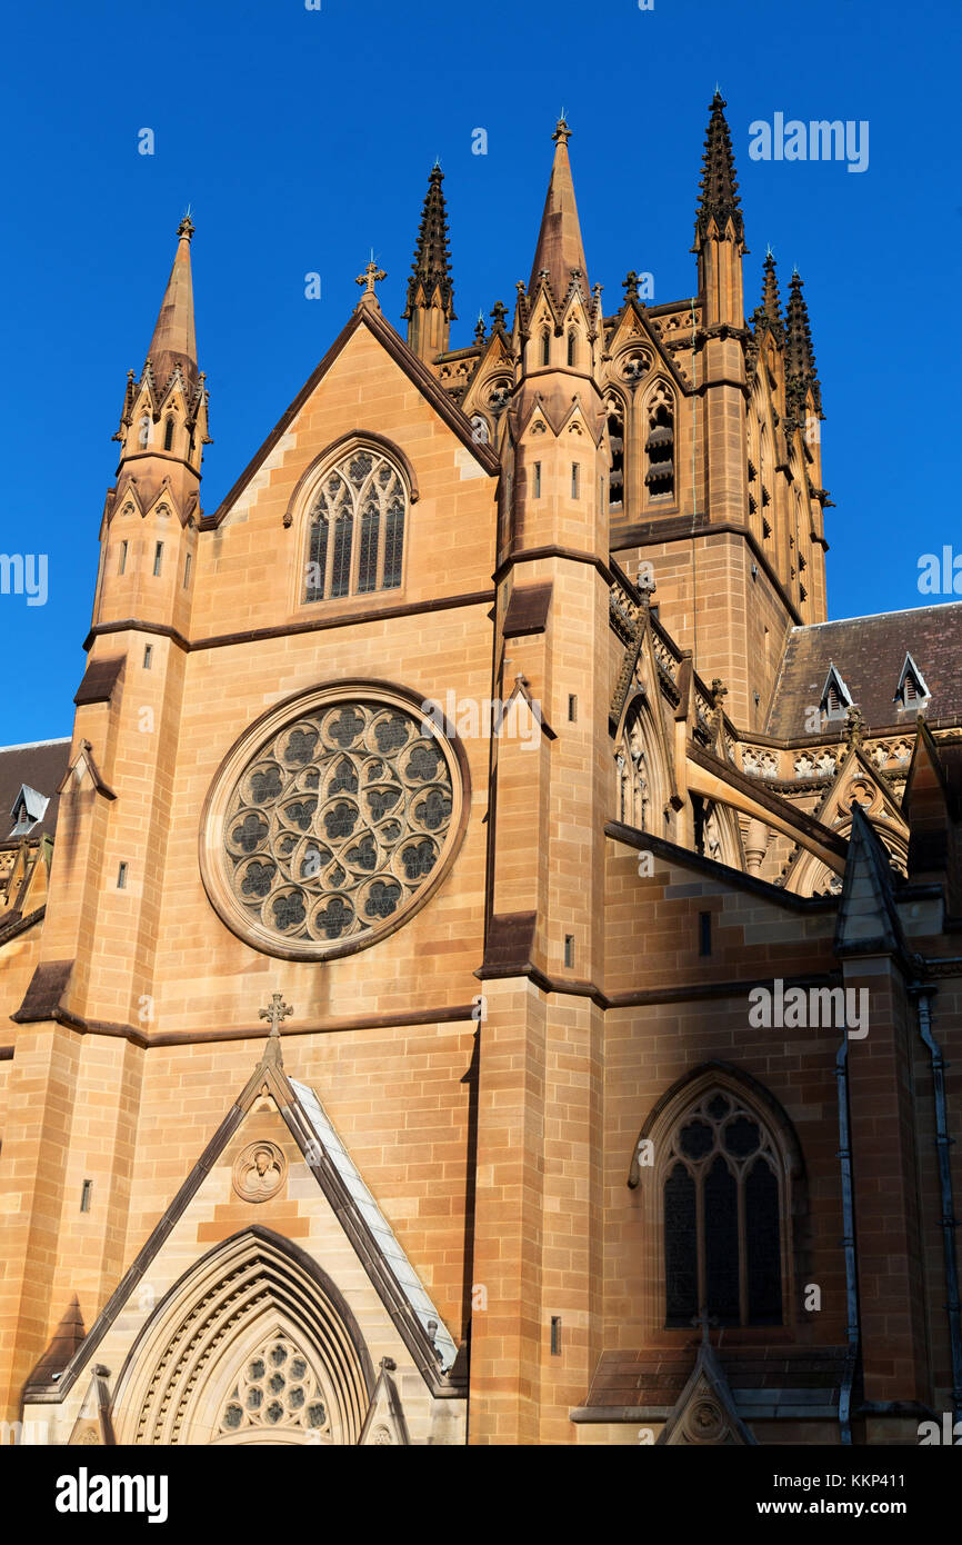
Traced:
POLYGON ((678 301, 605 311, 568 138, 513 315, 451 346, 435 167, 406 335, 371 264, 210 513, 181 224, 73 737, 0 749, 26 1441, 962 1415, 962 604, 828 621, 723 99, 678 301))

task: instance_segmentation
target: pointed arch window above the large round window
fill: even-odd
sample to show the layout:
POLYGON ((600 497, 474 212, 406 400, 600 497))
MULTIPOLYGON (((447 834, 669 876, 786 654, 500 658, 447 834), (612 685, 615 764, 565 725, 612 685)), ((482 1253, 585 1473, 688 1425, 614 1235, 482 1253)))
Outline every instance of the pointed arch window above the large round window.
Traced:
POLYGON ((355 447, 330 467, 307 519, 304 601, 397 590, 408 494, 380 451, 355 447))

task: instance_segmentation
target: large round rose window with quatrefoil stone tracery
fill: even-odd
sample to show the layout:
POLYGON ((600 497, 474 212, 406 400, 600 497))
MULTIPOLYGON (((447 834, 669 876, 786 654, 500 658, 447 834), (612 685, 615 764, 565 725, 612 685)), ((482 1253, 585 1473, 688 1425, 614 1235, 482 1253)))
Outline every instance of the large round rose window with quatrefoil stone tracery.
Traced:
POLYGON ((317 697, 244 759, 210 833, 235 921, 296 958, 395 925, 440 873, 460 796, 451 748, 415 711, 317 697))

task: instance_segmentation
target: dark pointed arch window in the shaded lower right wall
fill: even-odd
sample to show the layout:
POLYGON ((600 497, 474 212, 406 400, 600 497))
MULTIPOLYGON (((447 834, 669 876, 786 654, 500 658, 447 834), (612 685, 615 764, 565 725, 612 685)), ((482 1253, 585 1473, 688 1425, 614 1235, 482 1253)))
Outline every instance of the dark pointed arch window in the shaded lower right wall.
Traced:
POLYGON ((709 1085, 672 1122, 659 1170, 666 1326, 784 1318, 786 1163, 754 1103, 709 1085))

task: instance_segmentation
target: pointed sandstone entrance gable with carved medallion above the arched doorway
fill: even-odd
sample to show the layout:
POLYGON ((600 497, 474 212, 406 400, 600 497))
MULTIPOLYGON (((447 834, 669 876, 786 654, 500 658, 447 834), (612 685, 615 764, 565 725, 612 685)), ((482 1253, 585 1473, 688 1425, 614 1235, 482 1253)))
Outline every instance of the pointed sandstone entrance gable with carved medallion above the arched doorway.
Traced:
POLYGON ((86 1338, 63 1367, 45 1360, 25 1398, 62 1406, 54 1424, 66 1423, 66 1440, 96 1353, 119 1370, 117 1441, 227 1440, 224 1403, 270 1338, 313 1369, 312 1398, 327 1412, 341 1403, 324 1441, 360 1440, 374 1358, 409 1370, 409 1418, 423 1431, 437 1395, 465 1394, 448 1377, 457 1347, 440 1315, 317 1092, 284 1074, 276 1038, 86 1338), (210 1307, 221 1302, 235 1306, 224 1324, 210 1307), (201 1404, 198 1380, 188 1389, 174 1366, 185 1336, 210 1346, 201 1404), (170 1398, 154 1401, 164 1387, 170 1398), (171 1401, 184 1403, 181 1428, 171 1401))

